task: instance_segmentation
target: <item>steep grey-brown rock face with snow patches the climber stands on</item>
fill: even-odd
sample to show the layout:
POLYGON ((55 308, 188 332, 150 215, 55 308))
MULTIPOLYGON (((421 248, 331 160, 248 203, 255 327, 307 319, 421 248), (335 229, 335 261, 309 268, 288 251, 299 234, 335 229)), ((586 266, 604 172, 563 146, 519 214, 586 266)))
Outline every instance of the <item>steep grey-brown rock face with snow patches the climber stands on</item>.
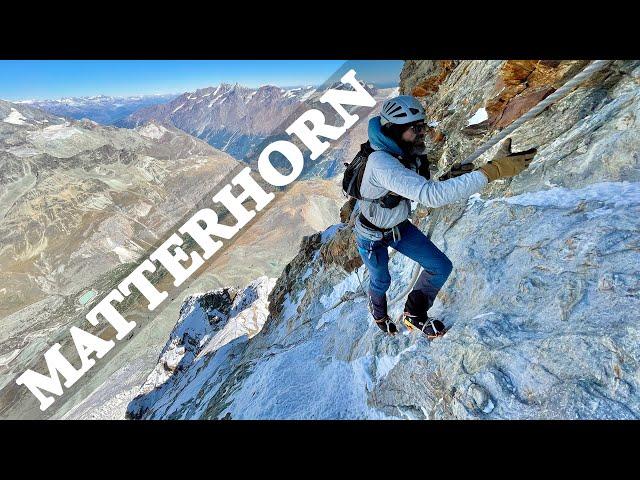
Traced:
MULTIPOLYGON (((580 62, 412 61, 440 170, 580 62), (483 111, 484 110, 484 111, 483 111)), ((382 335, 351 227, 303 239, 251 339, 208 349, 141 418, 640 417, 640 63, 617 61, 513 135, 528 170, 413 221, 454 270, 431 314, 450 328, 382 335)), ((493 155, 487 152, 477 162, 493 155)), ((417 271, 392 254, 391 314, 417 271)), ((171 343, 171 342, 170 342, 171 343)), ((153 392, 161 392, 155 394, 153 392)))

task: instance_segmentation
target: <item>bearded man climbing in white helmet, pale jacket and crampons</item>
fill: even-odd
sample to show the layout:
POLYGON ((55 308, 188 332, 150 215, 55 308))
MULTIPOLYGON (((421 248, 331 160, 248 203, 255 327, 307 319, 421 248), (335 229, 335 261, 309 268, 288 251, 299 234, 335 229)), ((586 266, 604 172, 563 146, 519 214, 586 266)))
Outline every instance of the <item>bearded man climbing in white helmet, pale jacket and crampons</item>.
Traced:
POLYGON ((479 169, 462 169, 458 176, 432 181, 424 154, 424 117, 424 108, 416 98, 400 95, 385 101, 380 116, 369 121, 369 143, 363 144, 363 149, 369 149, 368 157, 353 215, 358 252, 369 271, 369 309, 375 323, 388 334, 397 332, 387 315, 390 246, 423 269, 405 303, 403 323, 435 338, 444 334, 444 324, 429 318, 427 311, 453 266, 408 220, 411 201, 435 208, 467 198, 493 180, 520 173, 536 150, 511 153, 508 138, 494 159, 479 169))

